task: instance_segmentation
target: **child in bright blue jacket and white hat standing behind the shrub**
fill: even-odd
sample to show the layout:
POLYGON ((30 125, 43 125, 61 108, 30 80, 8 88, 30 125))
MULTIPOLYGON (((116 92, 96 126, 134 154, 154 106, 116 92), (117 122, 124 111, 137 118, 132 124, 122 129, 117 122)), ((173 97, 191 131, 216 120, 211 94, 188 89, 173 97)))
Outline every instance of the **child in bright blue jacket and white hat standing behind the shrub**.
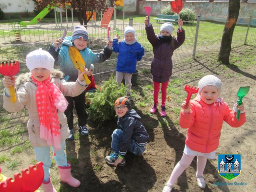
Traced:
MULTIPOLYGON (((135 38, 135 30, 128 26, 124 29, 124 40, 118 43, 119 37, 113 39, 113 51, 119 53, 117 56, 116 81, 121 84, 123 77, 127 89, 132 89, 132 74, 136 71, 136 63, 142 59, 144 48, 135 38)), ((127 96, 132 100, 131 93, 128 91, 127 96)))

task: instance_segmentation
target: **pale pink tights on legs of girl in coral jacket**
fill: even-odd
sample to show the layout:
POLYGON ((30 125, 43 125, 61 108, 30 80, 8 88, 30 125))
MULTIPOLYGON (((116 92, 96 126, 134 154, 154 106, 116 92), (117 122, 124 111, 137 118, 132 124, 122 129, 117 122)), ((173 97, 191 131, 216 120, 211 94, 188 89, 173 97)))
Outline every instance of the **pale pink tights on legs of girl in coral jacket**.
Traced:
MULTIPOLYGON (((181 176, 183 171, 191 164, 195 156, 186 155, 183 153, 181 160, 174 167, 170 179, 167 181, 168 184, 174 185, 175 181, 181 176)), ((197 156, 197 173, 196 176, 203 176, 203 170, 206 165, 206 157, 197 156)))

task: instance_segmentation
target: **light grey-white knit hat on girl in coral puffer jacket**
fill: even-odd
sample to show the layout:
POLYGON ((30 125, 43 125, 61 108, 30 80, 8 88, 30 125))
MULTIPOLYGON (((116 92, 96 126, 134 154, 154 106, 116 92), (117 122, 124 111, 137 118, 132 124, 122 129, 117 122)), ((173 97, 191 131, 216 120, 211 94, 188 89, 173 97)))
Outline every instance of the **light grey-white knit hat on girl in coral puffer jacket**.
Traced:
POLYGON ((207 85, 213 85, 213 86, 217 87, 218 92, 220 94, 221 80, 218 77, 216 77, 214 75, 206 75, 202 79, 200 79, 200 81, 198 83, 198 88, 199 88, 198 93, 200 93, 202 91, 202 89, 207 85))

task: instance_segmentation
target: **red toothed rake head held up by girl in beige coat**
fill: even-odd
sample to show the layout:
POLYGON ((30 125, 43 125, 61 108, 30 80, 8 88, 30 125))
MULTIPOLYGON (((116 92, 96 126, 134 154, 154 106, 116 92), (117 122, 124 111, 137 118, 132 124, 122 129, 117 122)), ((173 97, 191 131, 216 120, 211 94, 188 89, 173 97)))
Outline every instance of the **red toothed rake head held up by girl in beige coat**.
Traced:
POLYGON ((2 75, 7 75, 7 76, 12 76, 16 75, 19 73, 20 70, 20 65, 18 61, 13 61, 13 62, 2 62, 0 63, 0 74, 2 75))

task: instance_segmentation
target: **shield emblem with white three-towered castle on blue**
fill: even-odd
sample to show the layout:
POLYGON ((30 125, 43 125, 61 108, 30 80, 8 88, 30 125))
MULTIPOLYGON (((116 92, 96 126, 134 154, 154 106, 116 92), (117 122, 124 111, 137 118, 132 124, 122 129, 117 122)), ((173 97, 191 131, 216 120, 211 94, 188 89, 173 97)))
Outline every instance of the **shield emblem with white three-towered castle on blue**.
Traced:
POLYGON ((218 172, 229 181, 238 177, 241 173, 241 154, 218 154, 218 172))

